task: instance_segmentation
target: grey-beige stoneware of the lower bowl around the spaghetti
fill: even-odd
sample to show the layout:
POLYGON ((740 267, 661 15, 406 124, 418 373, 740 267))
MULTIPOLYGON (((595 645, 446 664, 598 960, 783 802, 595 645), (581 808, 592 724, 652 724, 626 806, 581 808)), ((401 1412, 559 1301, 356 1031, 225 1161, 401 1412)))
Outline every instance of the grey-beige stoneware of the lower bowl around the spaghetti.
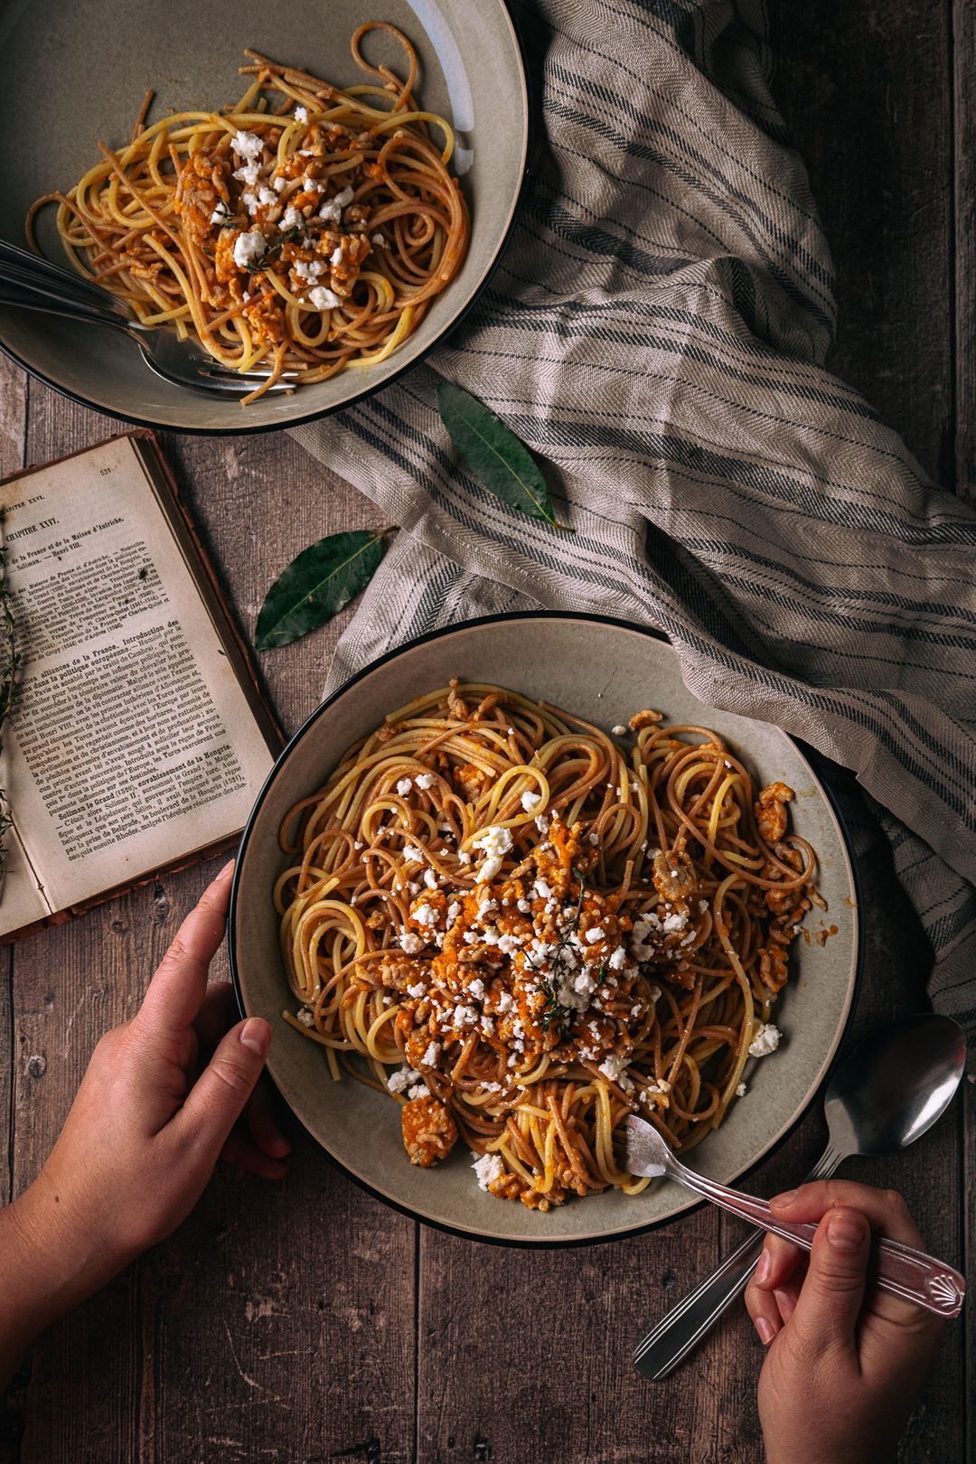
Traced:
MULTIPOLYGON (((288 808, 319 788, 341 752, 386 713, 451 676, 512 687, 610 729, 645 706, 673 722, 713 726, 761 782, 783 779, 797 793, 793 824, 819 855, 818 884, 838 933, 825 946, 797 941, 777 1007, 780 1050, 751 1064, 749 1092, 694 1154, 694 1165, 735 1181, 792 1127, 817 1094, 837 1050, 856 984, 855 877, 834 810, 796 744, 777 728, 716 712, 685 687, 661 640, 619 622, 530 615, 471 621, 392 651, 309 717, 258 796, 241 839, 230 916, 231 969, 243 1010, 274 1026, 269 1070, 296 1116, 332 1158, 375 1195, 421 1220, 484 1240, 572 1244, 626 1236, 670 1220, 695 1200, 670 1183, 642 1195, 571 1199, 546 1215, 478 1189, 471 1155, 458 1146, 435 1170, 404 1154, 399 1114, 353 1079, 332 1082, 322 1050, 281 1019, 290 1000, 271 892, 285 867, 278 827, 288 808)), ((811 912, 817 928, 821 912, 811 912)))

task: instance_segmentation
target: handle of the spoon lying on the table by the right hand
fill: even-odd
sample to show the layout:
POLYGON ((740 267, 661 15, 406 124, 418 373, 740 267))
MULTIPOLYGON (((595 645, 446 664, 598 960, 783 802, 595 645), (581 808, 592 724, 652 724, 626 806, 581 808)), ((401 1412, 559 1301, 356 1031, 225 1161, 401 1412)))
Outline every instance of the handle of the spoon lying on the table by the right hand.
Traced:
MULTIPOLYGON (((830 1179, 844 1158, 843 1151, 828 1145, 805 1183, 830 1179)), ((746 1236, 740 1246, 651 1328, 634 1350, 634 1366, 642 1378, 660 1382, 670 1376, 745 1291, 761 1250, 762 1234, 754 1231, 746 1236)))

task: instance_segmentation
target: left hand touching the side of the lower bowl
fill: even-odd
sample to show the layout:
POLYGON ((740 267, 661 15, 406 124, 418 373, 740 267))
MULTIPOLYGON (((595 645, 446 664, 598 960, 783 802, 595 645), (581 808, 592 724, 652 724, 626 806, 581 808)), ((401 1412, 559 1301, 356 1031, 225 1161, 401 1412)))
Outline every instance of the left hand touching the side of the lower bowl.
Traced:
POLYGON ((250 1017, 227 1031, 231 988, 206 982, 231 873, 233 861, 184 919, 139 1012, 98 1042, 50 1158, 12 1206, 64 1263, 67 1304, 168 1236, 221 1154, 265 1179, 285 1174, 290 1145, 256 1089, 271 1028, 250 1017))

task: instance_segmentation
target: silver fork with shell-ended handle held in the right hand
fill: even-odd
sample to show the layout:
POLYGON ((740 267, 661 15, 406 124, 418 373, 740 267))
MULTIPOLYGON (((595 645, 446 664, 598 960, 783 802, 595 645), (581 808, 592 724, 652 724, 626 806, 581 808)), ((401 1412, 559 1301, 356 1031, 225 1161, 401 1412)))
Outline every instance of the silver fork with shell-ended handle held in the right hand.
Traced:
MULTIPOLYGON (((675 1158, 657 1129, 637 1114, 631 1114, 626 1120, 623 1143, 623 1162, 631 1174, 645 1174, 653 1179, 666 1176, 761 1230, 783 1236, 803 1250, 811 1249, 817 1225, 777 1220, 764 1199, 743 1195, 742 1190, 729 1189, 727 1184, 718 1184, 686 1168, 675 1158)), ((882 1291, 913 1301, 936 1316, 958 1316, 963 1309, 966 1280, 958 1271, 936 1261, 935 1256, 926 1256, 922 1250, 903 1246, 898 1240, 888 1240, 887 1236, 874 1240, 871 1280, 882 1291)))

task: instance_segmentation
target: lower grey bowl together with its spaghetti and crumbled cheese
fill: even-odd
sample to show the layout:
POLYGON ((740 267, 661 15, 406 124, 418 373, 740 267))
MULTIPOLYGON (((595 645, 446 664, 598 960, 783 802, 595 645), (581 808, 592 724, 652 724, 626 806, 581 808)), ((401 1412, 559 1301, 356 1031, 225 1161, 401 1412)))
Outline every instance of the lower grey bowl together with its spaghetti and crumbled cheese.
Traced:
POLYGON ((686 1209, 631 1113, 732 1181, 806 1110, 857 972, 831 801, 654 635, 502 616, 367 668, 282 754, 231 903, 241 1007, 332 1158, 433 1224, 553 1244, 686 1209))

